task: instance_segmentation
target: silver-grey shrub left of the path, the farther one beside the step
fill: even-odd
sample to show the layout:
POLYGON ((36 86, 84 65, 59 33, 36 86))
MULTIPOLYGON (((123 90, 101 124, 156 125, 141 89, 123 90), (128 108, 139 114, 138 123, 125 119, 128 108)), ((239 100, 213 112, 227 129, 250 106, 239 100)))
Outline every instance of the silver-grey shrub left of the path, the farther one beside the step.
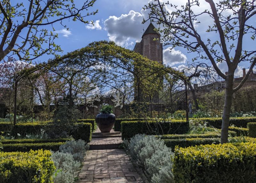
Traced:
POLYGON ((61 145, 59 151, 62 153, 70 153, 73 155, 74 160, 83 161, 86 150, 89 149, 89 144, 85 145, 84 140, 71 140, 61 145))

